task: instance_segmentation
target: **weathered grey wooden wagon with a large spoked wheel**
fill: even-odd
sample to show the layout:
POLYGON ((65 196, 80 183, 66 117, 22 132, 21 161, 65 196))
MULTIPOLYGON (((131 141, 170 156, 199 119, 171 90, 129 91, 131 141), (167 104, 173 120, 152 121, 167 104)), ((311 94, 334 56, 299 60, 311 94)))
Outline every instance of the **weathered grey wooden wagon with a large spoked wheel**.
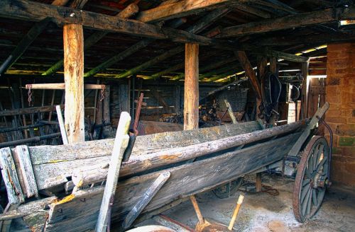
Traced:
MULTIPOLYGON (((141 217, 295 156, 300 163, 293 207, 296 219, 305 221, 319 209, 329 180, 329 146, 313 133, 328 108, 324 104, 312 120, 268 129, 253 121, 137 137, 121 166, 111 220, 124 221, 161 173, 170 177, 141 217)), ((104 139, 1 149, 10 207, 0 220, 23 219, 32 231, 94 230, 113 144, 104 139), (96 175, 82 175, 87 167, 96 175)))

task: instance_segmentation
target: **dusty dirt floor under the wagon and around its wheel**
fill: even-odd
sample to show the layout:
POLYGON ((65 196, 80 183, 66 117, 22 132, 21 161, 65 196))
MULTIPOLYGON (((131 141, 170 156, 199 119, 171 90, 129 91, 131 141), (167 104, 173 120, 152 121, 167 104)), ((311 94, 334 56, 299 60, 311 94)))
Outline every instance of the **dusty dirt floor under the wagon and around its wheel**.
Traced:
MULTIPOLYGON (((251 176, 245 179, 253 181, 251 176)), ((272 186, 280 194, 274 196, 266 192, 238 191, 227 199, 219 199, 212 192, 204 192, 196 196, 202 215, 228 225, 236 200, 243 193, 245 198, 234 226, 235 231, 355 231, 355 190, 331 187, 320 211, 305 224, 300 224, 293 216, 293 180, 266 174, 263 174, 262 180, 263 185, 272 186)), ((197 224, 190 201, 163 214, 191 228, 197 224)), ((145 224, 156 223, 146 221, 145 224)))

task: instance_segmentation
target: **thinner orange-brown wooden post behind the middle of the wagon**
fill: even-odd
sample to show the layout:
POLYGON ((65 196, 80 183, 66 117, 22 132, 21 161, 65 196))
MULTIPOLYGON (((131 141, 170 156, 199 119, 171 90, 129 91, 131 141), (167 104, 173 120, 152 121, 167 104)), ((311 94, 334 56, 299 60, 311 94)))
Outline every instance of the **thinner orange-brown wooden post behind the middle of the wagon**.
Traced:
POLYGON ((199 45, 185 45, 184 129, 199 127, 199 45))

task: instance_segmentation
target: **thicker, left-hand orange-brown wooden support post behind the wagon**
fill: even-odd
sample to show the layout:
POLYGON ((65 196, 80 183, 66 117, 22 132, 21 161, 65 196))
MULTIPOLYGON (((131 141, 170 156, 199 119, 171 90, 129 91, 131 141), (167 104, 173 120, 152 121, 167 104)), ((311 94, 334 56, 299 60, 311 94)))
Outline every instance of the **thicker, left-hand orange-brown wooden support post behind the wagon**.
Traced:
POLYGON ((69 143, 84 141, 84 36, 82 25, 63 26, 65 130, 69 143))

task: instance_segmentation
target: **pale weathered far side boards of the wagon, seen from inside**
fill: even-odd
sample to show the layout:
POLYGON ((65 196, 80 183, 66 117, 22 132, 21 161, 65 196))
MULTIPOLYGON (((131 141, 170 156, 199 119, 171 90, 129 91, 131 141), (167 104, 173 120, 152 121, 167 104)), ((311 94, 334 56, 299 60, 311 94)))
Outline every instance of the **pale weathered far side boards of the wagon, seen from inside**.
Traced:
MULTIPOLYGON (((141 136, 137 137, 131 156, 143 156, 147 153, 200 144, 261 129, 261 125, 254 121, 141 136)), ((60 181, 52 181, 50 178, 56 178, 56 180, 64 182, 66 177, 72 175, 72 170, 75 168, 109 161, 113 142, 113 139, 104 139, 60 146, 29 147, 28 151, 38 190, 60 184, 60 181)), ((16 149, 12 149, 12 153, 17 156, 16 149)), ((16 163, 16 167, 19 167, 19 163, 16 163)))

